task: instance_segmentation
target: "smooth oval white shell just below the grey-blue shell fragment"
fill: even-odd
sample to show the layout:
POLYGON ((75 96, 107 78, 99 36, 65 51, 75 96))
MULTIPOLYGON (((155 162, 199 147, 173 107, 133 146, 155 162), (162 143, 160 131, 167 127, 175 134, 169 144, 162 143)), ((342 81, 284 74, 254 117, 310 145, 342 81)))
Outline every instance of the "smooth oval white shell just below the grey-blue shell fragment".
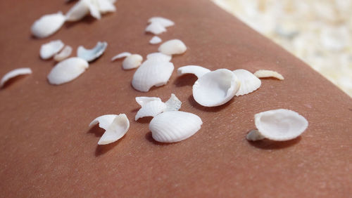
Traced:
POLYGON ((59 85, 72 81, 88 67, 89 64, 86 60, 77 57, 58 62, 48 75, 49 83, 59 85))

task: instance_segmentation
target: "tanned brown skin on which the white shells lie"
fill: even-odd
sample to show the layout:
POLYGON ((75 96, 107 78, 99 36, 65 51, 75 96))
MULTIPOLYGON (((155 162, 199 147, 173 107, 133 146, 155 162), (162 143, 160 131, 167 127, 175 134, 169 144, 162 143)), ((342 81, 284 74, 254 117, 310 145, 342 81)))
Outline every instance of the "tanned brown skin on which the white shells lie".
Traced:
POLYGON ((300 60, 253 32, 208 0, 118 1, 116 13, 87 18, 47 39, 30 36, 32 22, 45 13, 68 11, 64 1, 0 1, 0 76, 17 67, 33 74, 0 90, 1 197, 348 197, 352 194, 352 100, 300 60), (249 95, 221 107, 205 108, 191 96, 192 76, 172 74, 148 93, 130 85, 134 70, 111 62, 122 51, 157 51, 144 34, 146 21, 161 15, 176 25, 163 41, 188 46, 172 62, 210 70, 276 70, 284 81, 263 79, 249 95), (101 58, 82 76, 51 86, 54 60, 40 60, 39 48, 61 39, 77 48, 107 41, 101 58), (196 135, 158 144, 150 119, 134 121, 134 97, 175 93, 182 111, 198 114, 196 135), (253 115, 287 108, 309 121, 301 138, 284 143, 249 143, 253 115), (130 131, 117 143, 97 146, 103 133, 88 124, 102 114, 125 113, 130 131))

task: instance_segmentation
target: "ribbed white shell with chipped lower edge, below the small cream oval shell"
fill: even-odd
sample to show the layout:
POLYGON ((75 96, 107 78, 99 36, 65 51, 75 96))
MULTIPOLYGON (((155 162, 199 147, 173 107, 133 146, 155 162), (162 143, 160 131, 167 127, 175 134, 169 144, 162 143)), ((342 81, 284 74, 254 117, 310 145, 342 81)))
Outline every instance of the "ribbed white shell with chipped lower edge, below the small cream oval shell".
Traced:
POLYGON ((152 86, 168 83, 174 65, 172 62, 146 60, 133 75, 132 86, 138 91, 147 92, 152 86))

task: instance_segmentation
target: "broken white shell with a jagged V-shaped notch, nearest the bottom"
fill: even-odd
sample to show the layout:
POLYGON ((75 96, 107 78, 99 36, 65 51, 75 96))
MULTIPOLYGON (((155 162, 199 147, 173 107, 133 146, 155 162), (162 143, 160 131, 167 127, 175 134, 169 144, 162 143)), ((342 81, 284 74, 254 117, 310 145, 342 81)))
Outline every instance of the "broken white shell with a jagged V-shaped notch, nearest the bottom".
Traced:
POLYGON ((130 121, 128 121, 126 114, 108 114, 97 117, 89 124, 89 127, 98 123, 100 128, 106 130, 98 145, 107 145, 119 140, 125 136, 128 128, 130 128, 130 121))

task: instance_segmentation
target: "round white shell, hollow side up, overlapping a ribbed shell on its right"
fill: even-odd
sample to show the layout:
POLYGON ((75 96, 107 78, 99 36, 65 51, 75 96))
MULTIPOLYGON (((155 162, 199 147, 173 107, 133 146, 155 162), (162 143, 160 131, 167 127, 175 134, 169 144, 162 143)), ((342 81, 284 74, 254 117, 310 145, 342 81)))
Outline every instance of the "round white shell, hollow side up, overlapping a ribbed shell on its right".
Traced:
POLYGON ((199 105, 215 107, 227 103, 239 91, 241 82, 230 70, 208 72, 193 85, 193 97, 199 105))

